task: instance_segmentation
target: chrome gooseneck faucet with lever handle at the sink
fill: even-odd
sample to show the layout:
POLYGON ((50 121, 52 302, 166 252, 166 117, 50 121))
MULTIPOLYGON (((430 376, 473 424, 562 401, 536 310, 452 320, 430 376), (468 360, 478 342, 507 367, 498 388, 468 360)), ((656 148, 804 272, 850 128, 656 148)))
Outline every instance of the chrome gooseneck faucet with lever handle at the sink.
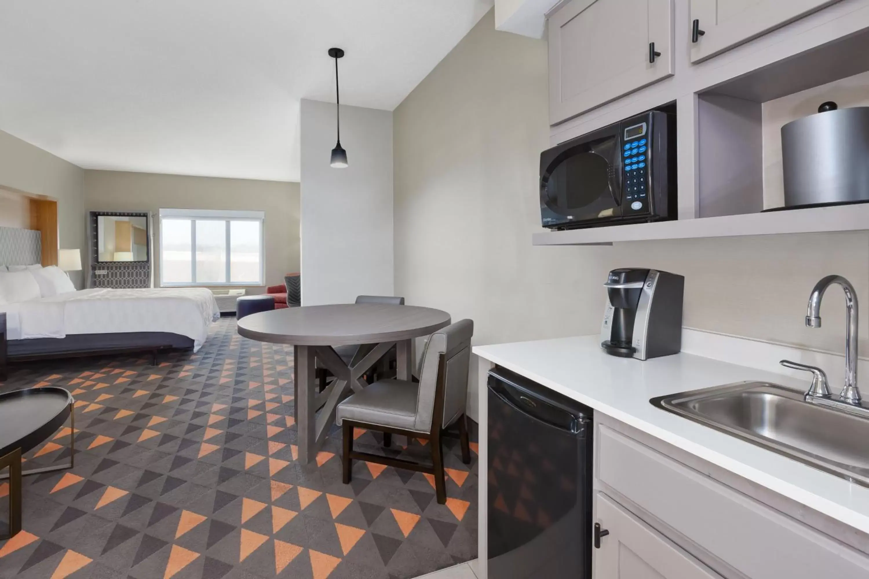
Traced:
POLYGON ((826 374, 815 366, 799 364, 790 360, 781 360, 780 364, 796 370, 806 370, 813 373, 812 386, 806 391, 806 402, 851 411, 861 415, 869 415, 869 407, 864 405, 857 387, 857 291, 851 282, 840 275, 828 275, 815 284, 809 295, 806 311, 806 326, 820 327, 820 302, 824 298, 826 288, 839 284, 845 290, 845 306, 848 313, 845 335, 845 386, 839 395, 833 395, 827 385, 826 374))

